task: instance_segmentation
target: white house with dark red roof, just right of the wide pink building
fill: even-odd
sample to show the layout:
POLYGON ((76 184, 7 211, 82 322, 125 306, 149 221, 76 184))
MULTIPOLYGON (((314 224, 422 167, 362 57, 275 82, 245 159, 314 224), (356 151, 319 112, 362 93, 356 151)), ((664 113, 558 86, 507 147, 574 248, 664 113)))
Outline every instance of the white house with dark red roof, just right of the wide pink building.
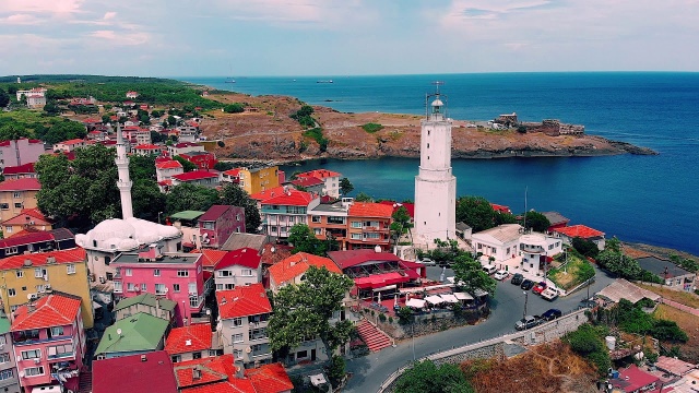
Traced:
POLYGON ((257 250, 241 248, 227 251, 214 267, 216 290, 229 290, 241 285, 262 282, 261 257, 257 250))

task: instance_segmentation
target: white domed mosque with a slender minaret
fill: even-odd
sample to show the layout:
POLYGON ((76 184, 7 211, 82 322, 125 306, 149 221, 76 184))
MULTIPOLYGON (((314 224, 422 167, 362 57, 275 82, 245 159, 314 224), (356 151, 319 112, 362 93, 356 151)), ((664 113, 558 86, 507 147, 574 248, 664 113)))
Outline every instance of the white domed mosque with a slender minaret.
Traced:
POLYGON ((156 245, 161 252, 177 252, 182 249, 182 233, 173 226, 151 223, 133 217, 131 203, 131 179, 129 157, 117 126, 117 187, 121 195, 122 218, 109 218, 97 224, 87 234, 75 235, 78 246, 87 253, 91 286, 99 291, 111 293, 115 269, 109 263, 121 252, 134 251, 144 246, 156 245))

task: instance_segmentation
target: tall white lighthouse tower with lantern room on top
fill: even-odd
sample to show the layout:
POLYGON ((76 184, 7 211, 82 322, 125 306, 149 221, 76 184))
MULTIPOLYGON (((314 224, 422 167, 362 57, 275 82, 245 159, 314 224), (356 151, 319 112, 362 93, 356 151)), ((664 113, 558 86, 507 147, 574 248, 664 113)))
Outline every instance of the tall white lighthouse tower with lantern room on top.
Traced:
POLYGON ((455 239, 457 178, 451 174, 451 119, 437 93, 426 97, 422 121, 419 172, 415 177, 416 242, 455 239), (431 100, 431 102, 430 102, 431 100))

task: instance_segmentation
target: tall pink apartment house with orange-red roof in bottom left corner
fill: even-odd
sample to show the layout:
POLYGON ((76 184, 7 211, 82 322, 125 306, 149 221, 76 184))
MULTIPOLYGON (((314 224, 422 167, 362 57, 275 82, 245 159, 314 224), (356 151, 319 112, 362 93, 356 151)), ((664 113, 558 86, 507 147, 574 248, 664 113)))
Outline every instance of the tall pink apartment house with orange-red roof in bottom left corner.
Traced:
POLYGON ((78 391, 86 347, 80 303, 76 296, 51 293, 14 311, 10 332, 25 392, 59 385, 78 391))

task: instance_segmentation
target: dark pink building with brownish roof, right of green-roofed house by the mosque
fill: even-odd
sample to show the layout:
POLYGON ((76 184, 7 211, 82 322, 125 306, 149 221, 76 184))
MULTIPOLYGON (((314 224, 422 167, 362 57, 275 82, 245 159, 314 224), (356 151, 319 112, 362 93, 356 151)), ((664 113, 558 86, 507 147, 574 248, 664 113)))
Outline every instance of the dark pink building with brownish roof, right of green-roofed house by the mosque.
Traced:
POLYGON ((230 205, 213 205, 199 217, 202 247, 220 248, 230 234, 245 234, 245 209, 230 205))

